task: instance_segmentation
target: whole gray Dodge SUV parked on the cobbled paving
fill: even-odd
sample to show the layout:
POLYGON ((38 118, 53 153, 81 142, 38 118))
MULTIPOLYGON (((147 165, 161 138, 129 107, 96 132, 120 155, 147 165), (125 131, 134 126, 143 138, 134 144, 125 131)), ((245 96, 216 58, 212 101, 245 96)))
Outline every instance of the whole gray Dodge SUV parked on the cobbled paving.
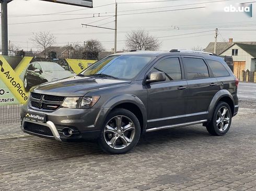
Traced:
POLYGON ((21 129, 63 142, 96 139, 110 154, 131 150, 142 133, 180 126, 201 123, 225 135, 238 112, 237 86, 211 53, 113 54, 75 77, 32 87, 21 129))

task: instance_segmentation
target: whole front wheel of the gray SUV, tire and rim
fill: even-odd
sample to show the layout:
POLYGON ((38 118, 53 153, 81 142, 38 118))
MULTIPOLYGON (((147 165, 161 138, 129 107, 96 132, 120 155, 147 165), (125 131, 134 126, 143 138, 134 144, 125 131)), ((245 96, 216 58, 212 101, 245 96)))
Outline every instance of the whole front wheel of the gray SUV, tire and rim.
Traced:
POLYGON ((141 126, 135 114, 126 109, 114 109, 103 123, 99 145, 109 154, 130 151, 141 136, 141 126))

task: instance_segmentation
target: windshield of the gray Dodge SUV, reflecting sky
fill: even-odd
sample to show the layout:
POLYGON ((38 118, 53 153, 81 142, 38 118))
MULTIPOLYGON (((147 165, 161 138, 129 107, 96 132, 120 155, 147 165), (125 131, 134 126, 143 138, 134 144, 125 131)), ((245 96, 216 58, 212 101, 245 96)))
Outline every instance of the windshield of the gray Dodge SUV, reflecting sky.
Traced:
POLYGON ((133 79, 147 63, 152 60, 149 56, 113 55, 103 58, 87 68, 81 74, 95 75, 97 77, 112 77, 133 79))

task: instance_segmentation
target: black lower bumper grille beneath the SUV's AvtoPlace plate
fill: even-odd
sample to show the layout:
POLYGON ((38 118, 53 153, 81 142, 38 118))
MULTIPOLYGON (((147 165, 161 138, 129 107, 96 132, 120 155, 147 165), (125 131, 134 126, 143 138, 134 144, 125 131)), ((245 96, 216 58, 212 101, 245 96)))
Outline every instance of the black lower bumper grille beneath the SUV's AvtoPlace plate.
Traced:
POLYGON ((37 133, 39 135, 53 136, 52 131, 50 130, 50 128, 48 128, 48 126, 36 123, 25 122, 24 130, 31 133, 37 133))

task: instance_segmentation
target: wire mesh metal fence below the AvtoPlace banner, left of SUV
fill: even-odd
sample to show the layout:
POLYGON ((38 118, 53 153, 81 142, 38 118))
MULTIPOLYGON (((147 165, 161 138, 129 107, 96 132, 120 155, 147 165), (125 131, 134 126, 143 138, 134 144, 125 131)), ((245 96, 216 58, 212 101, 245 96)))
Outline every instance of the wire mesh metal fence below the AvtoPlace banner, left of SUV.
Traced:
POLYGON ((12 124, 20 121, 21 105, 0 106, 0 124, 12 124))

